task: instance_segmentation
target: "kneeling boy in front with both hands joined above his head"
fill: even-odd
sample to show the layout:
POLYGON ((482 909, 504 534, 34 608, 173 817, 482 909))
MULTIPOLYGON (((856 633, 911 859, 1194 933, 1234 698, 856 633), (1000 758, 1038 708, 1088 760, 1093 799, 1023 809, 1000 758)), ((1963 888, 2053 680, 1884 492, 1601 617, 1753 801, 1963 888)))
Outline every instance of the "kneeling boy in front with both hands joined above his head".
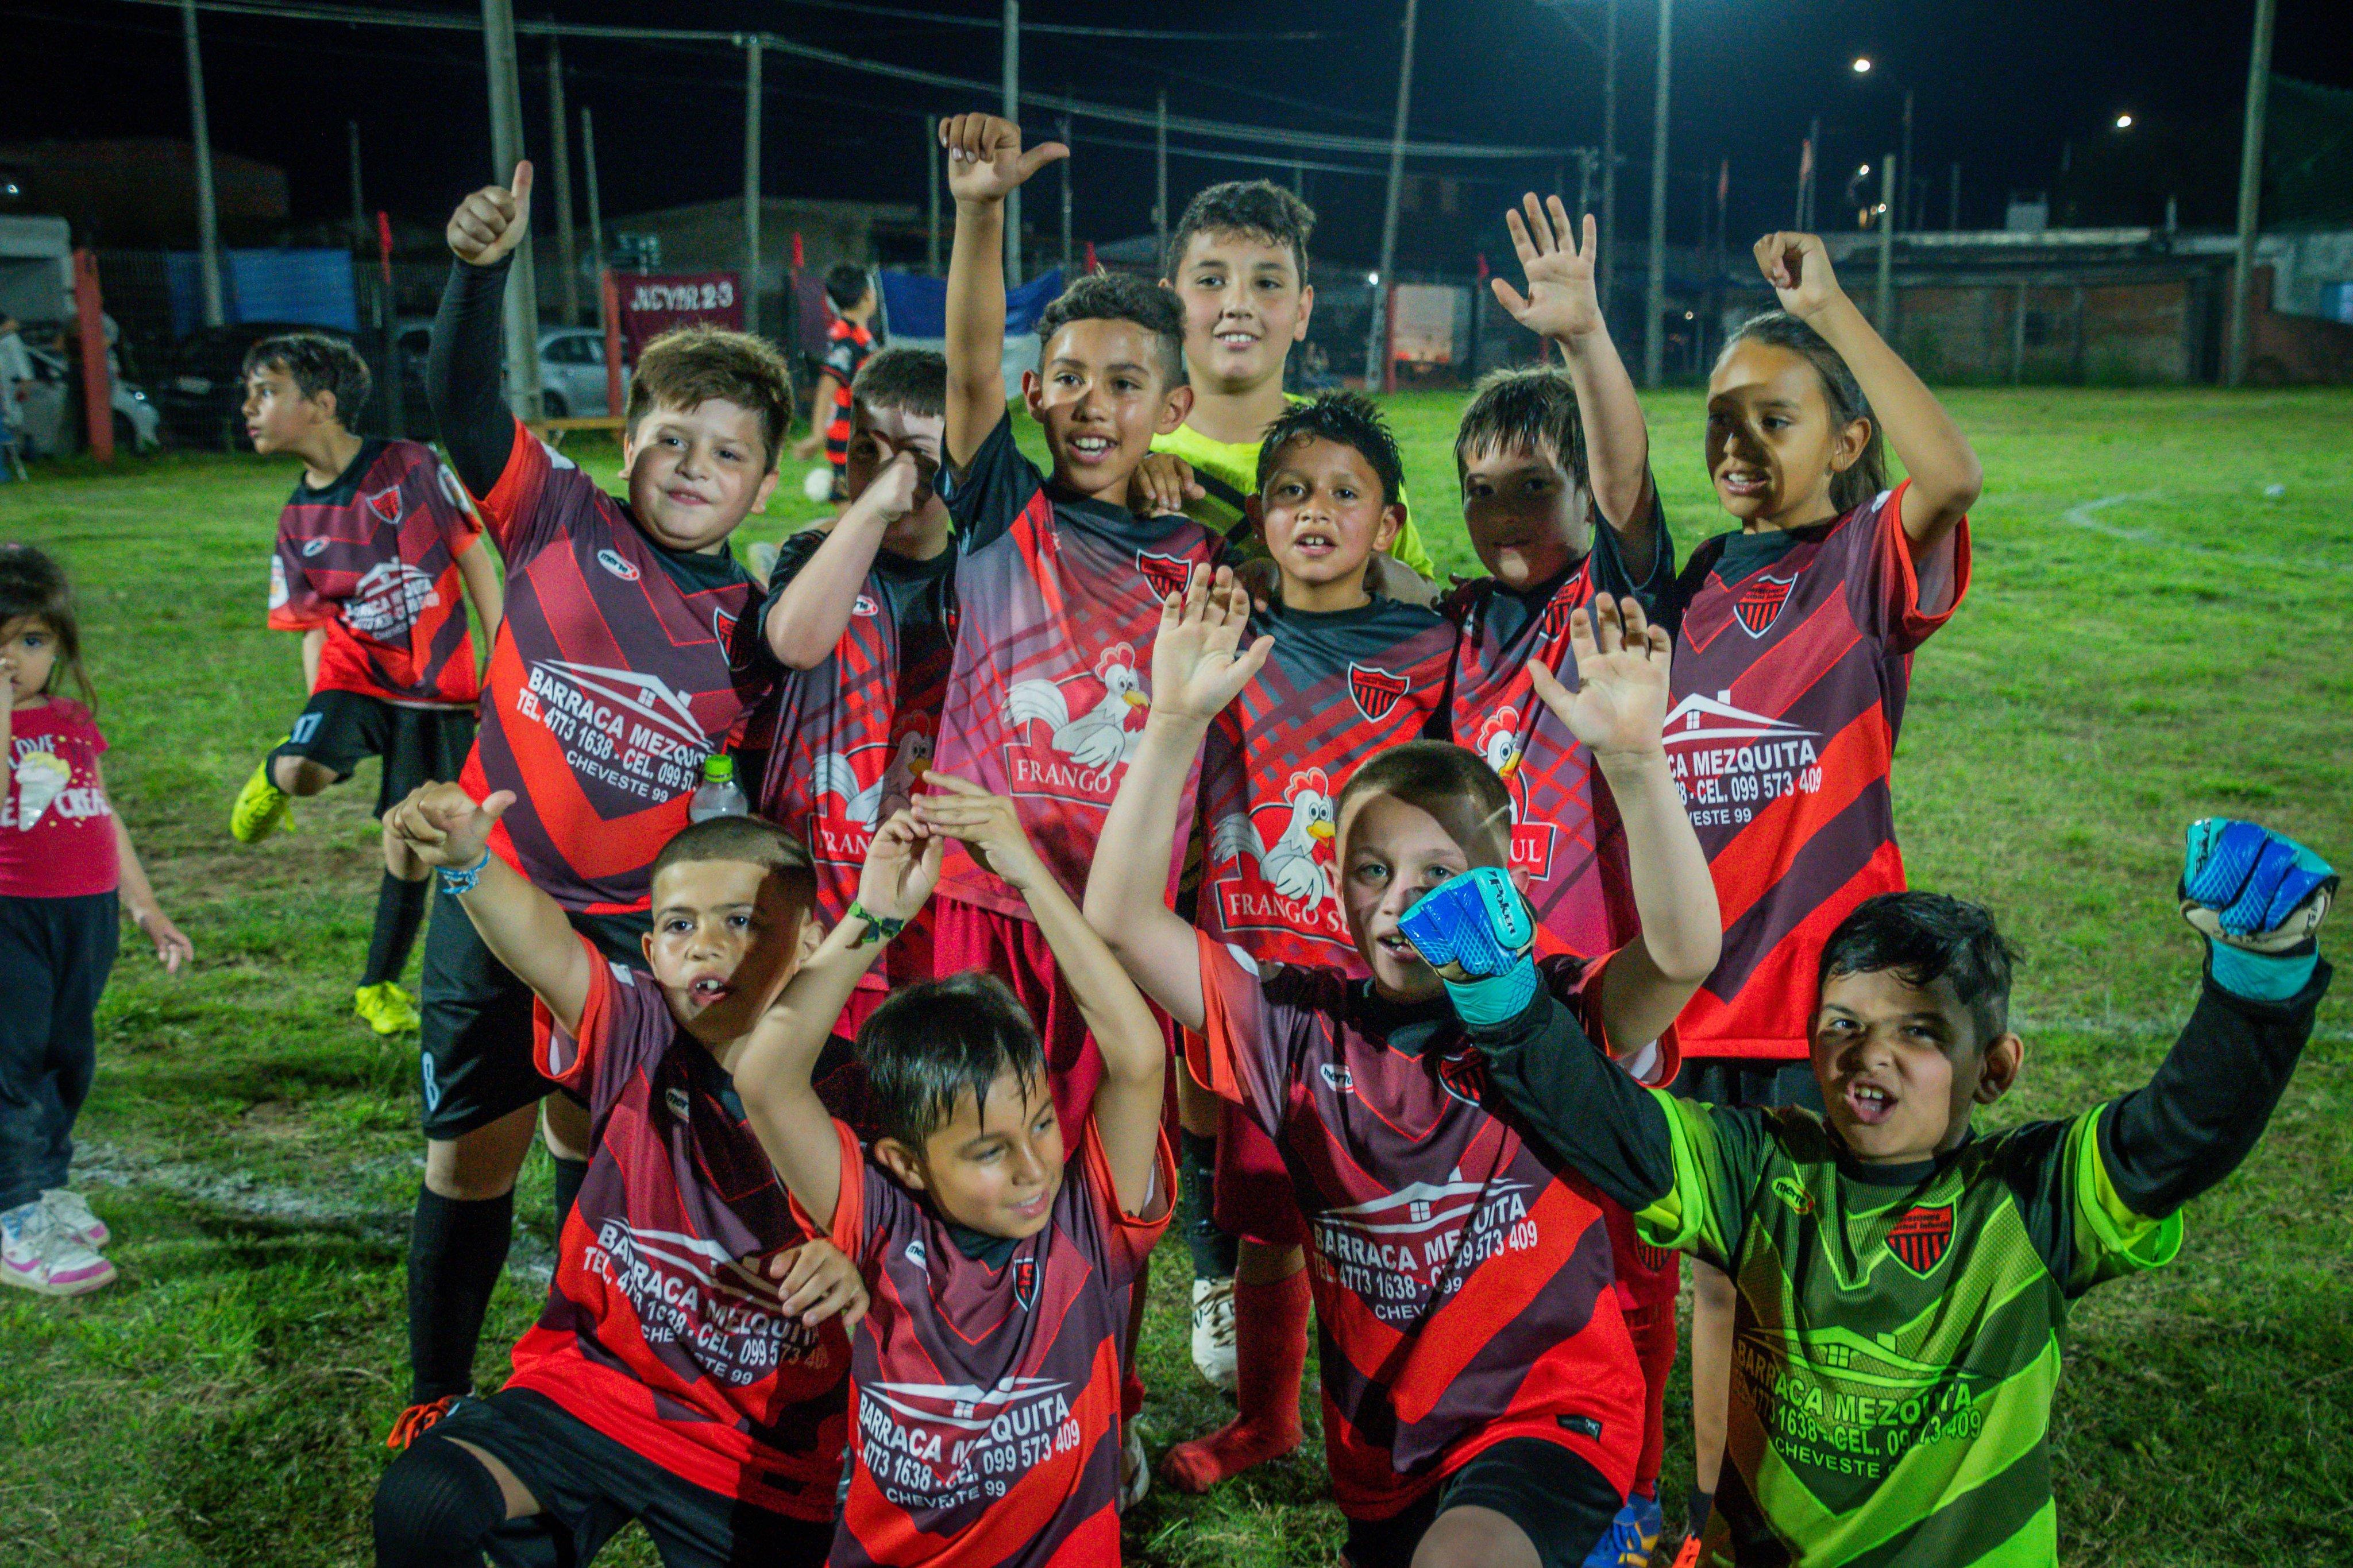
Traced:
POLYGON ((852 1340, 852 1465, 831 1561, 1118 1563, 1129 1298, 1176 1180, 1160 1135, 1167 1044, 1014 802, 944 773, 925 783, 875 832, 856 903, 741 1065, 751 1124, 795 1206, 873 1291, 852 1340), (1002 983, 913 985, 859 1030, 880 1128, 861 1147, 826 1114, 812 1065, 880 945, 922 907, 948 842, 1031 903, 1101 1070, 1066 1131, 1038 1030, 1002 983))

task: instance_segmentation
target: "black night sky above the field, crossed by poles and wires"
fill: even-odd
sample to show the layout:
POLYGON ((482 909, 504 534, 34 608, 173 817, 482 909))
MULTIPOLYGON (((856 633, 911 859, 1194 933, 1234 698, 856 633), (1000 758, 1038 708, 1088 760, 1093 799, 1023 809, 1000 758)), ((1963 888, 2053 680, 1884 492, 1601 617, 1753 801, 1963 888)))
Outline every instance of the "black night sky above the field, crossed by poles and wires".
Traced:
MULTIPOLYGON (((414 9, 478 16, 452 0, 414 9)), ((880 0, 915 7, 920 0, 880 0)), ((1619 0, 1619 237, 1647 233, 1652 47, 1657 9, 1619 0)), ((988 0, 939 0, 941 14, 995 19, 988 0)), ((849 54, 993 82, 995 28, 845 14, 781 0, 518 0, 520 16, 656 26, 765 28, 849 54)), ((26 0, 9 19, 12 87, 0 139, 186 136, 188 108, 174 9, 127 0, 26 0), (26 68, 38 61, 38 68, 26 68)), ((1031 24, 1320 31, 1304 42, 1158 42, 1024 35, 1024 82, 1148 108, 1169 89, 1174 113, 1273 127, 1386 136, 1395 99, 1402 0, 1195 0, 1080 5, 1031 0, 1031 24)), ((1786 226, 1798 143, 1824 122, 1821 214, 1838 221, 1845 176, 1897 146, 1904 87, 1915 92, 1915 162, 1934 179, 1927 226, 1946 219, 1946 179, 1962 165, 1962 226, 1998 226, 2012 190, 2049 190, 2054 221, 2158 223, 2165 195, 2186 226, 2233 221, 2240 99, 2252 0, 1680 0, 1675 7, 1668 230, 1701 240, 1720 160, 1729 158, 1734 242, 1786 226), (1878 71, 1859 80, 1854 54, 1878 71), (2132 132, 2115 132, 2132 113, 2132 132), (2066 165, 2066 172, 2061 172, 2066 165)), ((2353 87, 2353 7, 2280 0, 2275 66, 2353 87)), ((362 125, 369 207, 433 221, 489 174, 482 42, 426 33, 205 14, 205 73, 214 146, 282 165, 296 221, 351 209, 344 122, 362 125)), ((1414 136, 1497 143, 1600 141, 1600 0, 1424 0, 1414 136), (1591 40, 1591 42, 1588 42, 1591 40)), ((546 141, 544 42, 525 38, 522 92, 532 153, 546 141)), ((565 42, 574 103, 598 120, 605 212, 727 197, 741 190, 741 54, 713 47, 565 42)), ((767 61, 765 183, 772 195, 922 202, 922 115, 993 106, 986 99, 868 75, 767 61)), ((1033 120, 1045 118, 1042 110, 1033 120)), ((1148 129, 1080 120, 1075 228, 1115 240, 1151 228, 1148 129)), ((1172 202, 1214 179, 1273 174, 1200 158, 1179 141, 1172 202)), ((1325 155, 1379 174, 1379 158, 1325 155)), ((1548 162, 1412 165, 1466 176, 1461 216, 1407 214, 1407 256, 1468 266, 1501 249, 1497 212, 1508 190, 1548 186, 1548 162)), ((1574 195, 1569 165, 1569 195, 1574 195)), ((1369 256, 1379 179, 1306 174, 1322 214, 1318 252, 1369 256)), ((1031 223, 1052 235, 1052 176, 1031 223)), ((546 188, 546 183, 541 183, 546 188)), ((544 214, 541 214, 544 216, 544 214)), ((1852 214, 1845 219, 1852 223, 1852 214)))

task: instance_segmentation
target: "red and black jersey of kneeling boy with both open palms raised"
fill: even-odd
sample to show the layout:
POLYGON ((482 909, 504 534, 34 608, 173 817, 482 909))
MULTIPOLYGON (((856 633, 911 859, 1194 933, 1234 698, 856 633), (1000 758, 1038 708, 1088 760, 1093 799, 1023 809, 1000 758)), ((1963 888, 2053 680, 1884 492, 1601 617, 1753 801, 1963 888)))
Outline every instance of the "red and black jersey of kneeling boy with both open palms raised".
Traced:
MULTIPOLYGON (((1388 1519, 1513 1436, 1562 1443, 1624 1490, 1642 1368, 1602 1194, 1489 1098, 1445 999, 1393 1004, 1337 969, 1198 943, 1207 1016, 1186 1058, 1275 1140, 1306 1215, 1341 1512, 1388 1519)), ((1577 978, 1598 973, 1548 966, 1595 1034, 1577 978)))

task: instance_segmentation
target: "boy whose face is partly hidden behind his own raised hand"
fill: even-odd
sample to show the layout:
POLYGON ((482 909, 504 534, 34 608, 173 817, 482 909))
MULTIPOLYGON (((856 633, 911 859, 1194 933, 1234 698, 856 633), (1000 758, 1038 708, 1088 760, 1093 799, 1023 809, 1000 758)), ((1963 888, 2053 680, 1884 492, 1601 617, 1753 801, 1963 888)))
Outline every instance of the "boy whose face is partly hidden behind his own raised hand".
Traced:
MULTIPOLYGON (((936 353, 885 348, 856 374, 849 505, 784 541, 760 630, 784 665, 753 719, 767 752, 758 806, 816 858, 816 914, 842 919, 875 827, 904 806, 939 736, 955 649, 955 541, 932 491, 948 395, 936 353)), ((896 985, 932 978, 918 922, 859 980, 842 1032, 896 985)))

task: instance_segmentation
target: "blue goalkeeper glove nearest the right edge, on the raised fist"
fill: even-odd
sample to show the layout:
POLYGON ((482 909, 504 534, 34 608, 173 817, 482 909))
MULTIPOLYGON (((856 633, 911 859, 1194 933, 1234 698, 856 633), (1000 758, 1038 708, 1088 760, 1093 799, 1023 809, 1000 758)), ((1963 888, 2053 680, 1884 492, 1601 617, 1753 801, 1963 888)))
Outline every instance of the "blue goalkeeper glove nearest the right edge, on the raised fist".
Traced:
POLYGON ((2294 839, 2254 823, 2191 823, 2181 856, 2181 917, 2207 938, 2207 969, 2226 992, 2287 1001, 2320 961, 2313 933, 2337 896, 2337 872, 2294 839))

